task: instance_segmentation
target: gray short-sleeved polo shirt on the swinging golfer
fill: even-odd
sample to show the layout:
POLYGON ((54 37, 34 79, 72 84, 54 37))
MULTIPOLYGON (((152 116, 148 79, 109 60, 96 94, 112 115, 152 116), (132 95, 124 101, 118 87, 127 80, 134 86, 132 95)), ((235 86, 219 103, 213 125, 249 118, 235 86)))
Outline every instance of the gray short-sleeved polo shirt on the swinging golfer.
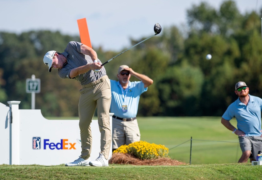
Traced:
MULTIPOLYGON (((90 56, 80 53, 81 45, 82 43, 75 42, 75 41, 70 41, 67 44, 67 47, 62 53, 67 58, 67 64, 65 64, 62 69, 58 69, 58 75, 60 78, 70 79, 69 74, 72 69, 74 69, 75 67, 80 67, 89 63, 93 63, 90 56)), ((106 75, 106 69, 105 67, 103 67, 100 72, 94 72, 92 70, 89 70, 85 74, 80 74, 74 77, 74 79, 79 81, 81 85, 86 85, 93 81, 98 80, 100 77, 105 75, 106 75)))

